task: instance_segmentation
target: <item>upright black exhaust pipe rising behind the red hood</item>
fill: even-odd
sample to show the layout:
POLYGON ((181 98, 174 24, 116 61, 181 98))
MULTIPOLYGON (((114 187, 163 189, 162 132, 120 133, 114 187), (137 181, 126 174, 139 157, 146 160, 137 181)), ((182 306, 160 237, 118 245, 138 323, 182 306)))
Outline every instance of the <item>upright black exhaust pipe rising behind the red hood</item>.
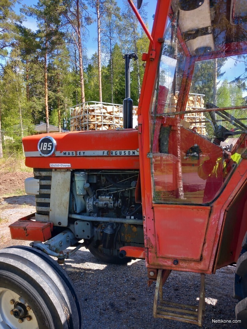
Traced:
POLYGON ((136 54, 125 54, 125 99, 123 101, 123 123, 124 129, 133 128, 133 100, 130 98, 130 67, 131 59, 138 60, 136 54))

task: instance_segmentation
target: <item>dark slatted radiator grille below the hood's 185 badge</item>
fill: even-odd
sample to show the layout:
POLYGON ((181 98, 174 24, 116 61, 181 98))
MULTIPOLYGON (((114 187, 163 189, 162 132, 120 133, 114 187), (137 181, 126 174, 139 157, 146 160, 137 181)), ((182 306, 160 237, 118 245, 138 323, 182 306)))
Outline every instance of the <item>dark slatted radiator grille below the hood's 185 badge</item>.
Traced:
POLYGON ((39 194, 35 196, 36 212, 40 215, 49 215, 51 197, 52 169, 34 168, 34 178, 40 180, 39 194))

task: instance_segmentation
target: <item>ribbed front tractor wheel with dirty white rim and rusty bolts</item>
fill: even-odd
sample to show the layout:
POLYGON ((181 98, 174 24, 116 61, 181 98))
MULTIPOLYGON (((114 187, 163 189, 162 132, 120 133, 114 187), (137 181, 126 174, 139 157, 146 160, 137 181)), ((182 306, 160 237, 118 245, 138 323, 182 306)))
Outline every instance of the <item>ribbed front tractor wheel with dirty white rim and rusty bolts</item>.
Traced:
POLYGON ((0 329, 78 329, 81 305, 65 271, 41 251, 0 250, 0 329))

